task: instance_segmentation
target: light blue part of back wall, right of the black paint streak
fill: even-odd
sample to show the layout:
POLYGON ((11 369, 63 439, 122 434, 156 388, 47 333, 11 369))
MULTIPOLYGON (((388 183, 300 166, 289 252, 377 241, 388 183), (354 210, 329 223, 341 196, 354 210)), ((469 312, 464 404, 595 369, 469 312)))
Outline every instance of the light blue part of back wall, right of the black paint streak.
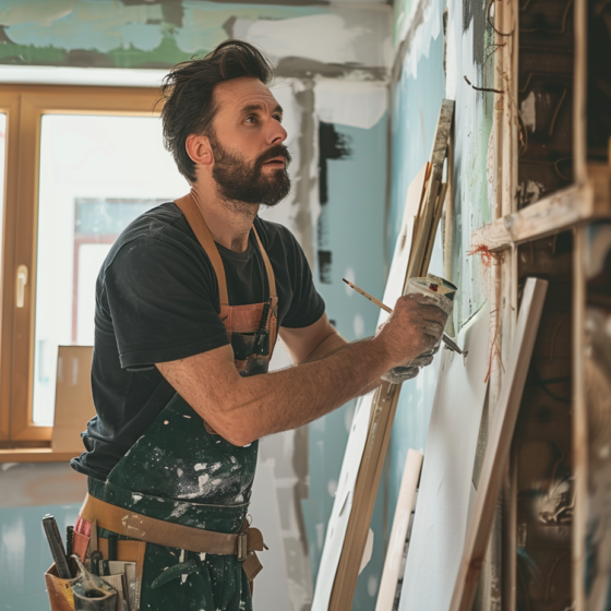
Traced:
MULTIPOLYGON (((384 201, 386 193, 387 117, 371 129, 335 124, 345 136, 351 155, 328 161, 328 203, 324 226, 332 251, 332 284, 316 288, 326 312, 339 333, 349 340, 373 335, 380 310, 342 281, 354 274, 355 281, 372 295, 384 291, 384 201)), ((318 271, 316 271, 318 272, 318 271)), ((310 499, 303 503, 315 577, 326 525, 333 508, 355 403, 310 424, 310 499)), ((370 564, 357 586, 354 609, 372 610, 384 559, 383 487, 378 499, 372 529, 374 549, 370 564)))

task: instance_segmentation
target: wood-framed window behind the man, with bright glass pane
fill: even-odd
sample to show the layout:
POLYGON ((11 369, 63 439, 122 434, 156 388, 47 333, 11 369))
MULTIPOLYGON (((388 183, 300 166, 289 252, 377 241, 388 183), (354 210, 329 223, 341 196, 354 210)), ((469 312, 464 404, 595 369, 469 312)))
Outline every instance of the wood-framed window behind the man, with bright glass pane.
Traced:
POLYGON ((112 242, 136 216, 189 190, 163 147, 157 97, 156 89, 3 87, 4 447, 48 446, 58 346, 93 344, 95 284, 112 242))

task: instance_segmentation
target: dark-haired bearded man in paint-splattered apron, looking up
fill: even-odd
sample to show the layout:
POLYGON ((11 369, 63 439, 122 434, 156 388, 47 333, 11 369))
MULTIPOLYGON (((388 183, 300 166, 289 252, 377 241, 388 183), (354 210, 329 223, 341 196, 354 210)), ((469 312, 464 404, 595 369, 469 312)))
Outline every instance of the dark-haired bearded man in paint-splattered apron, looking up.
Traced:
POLYGON ((396 380, 445 324, 407 297, 373 338, 349 344, 330 324, 297 240, 257 216, 290 190, 272 76, 238 40, 170 72, 165 143, 191 192, 134 220, 97 281, 74 549, 91 538, 104 560, 136 562, 128 596, 147 611, 251 610, 257 440, 396 380), (295 366, 267 373, 278 336, 295 366))

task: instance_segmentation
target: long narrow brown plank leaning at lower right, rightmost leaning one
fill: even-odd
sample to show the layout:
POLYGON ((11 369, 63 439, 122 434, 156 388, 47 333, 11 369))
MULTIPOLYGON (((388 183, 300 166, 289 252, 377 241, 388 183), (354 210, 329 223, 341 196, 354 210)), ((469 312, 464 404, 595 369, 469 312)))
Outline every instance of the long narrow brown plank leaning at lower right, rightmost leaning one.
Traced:
POLYGON ((474 511, 469 519, 463 560, 452 596, 450 611, 471 611, 488 547, 496 501, 510 456, 510 448, 522 403, 526 375, 535 347, 539 320, 543 309, 548 283, 528 278, 524 288, 522 307, 506 374, 481 469, 474 511))

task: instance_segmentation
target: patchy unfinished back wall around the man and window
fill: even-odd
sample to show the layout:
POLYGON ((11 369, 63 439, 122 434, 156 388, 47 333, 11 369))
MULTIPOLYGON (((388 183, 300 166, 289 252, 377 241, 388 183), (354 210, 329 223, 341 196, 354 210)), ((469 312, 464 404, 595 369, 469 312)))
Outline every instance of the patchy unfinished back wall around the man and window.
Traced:
MULTIPOLYGON (((167 69, 205 55, 228 37, 259 45, 280 76, 275 93, 287 109, 293 155, 292 193, 263 216, 295 232, 330 319, 345 337, 357 339, 373 333, 379 312, 345 290, 342 277, 382 292, 391 9, 381 2, 291 4, 7 0, 0 9, 0 64, 167 69)), ((276 364, 281 363, 279 355, 276 364)), ((309 428, 264 440, 261 446, 262 459, 275 463, 296 610, 307 609, 311 600, 352 410, 352 405, 345 406, 309 428)), ((85 482, 65 465, 4 468, 0 609, 37 611, 46 604, 41 574, 50 564, 39 519, 49 512, 60 527, 73 520, 85 482), (22 474, 28 474, 33 491, 27 499, 13 486, 22 474), (49 481, 57 482, 52 491, 49 481), (65 487, 72 492, 63 495, 65 487), (26 567, 32 578, 26 578, 26 567)), ((373 558, 361 575, 356 609, 374 606, 383 559, 383 508, 380 502, 373 558)))

